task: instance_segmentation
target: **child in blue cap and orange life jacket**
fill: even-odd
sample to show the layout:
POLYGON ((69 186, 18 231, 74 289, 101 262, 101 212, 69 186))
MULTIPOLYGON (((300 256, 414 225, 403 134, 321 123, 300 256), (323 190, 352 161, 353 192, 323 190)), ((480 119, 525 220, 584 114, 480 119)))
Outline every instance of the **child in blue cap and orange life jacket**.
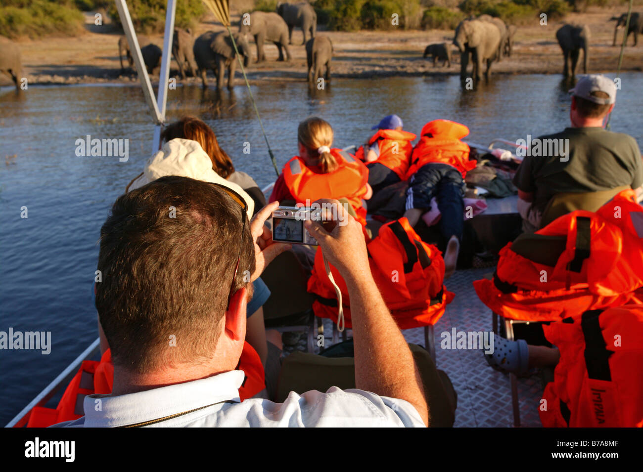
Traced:
POLYGON ((368 167, 368 184, 374 192, 404 180, 410 164, 415 134, 403 131, 404 124, 397 115, 388 115, 372 127, 376 134, 368 139, 356 157, 363 158, 368 167))

